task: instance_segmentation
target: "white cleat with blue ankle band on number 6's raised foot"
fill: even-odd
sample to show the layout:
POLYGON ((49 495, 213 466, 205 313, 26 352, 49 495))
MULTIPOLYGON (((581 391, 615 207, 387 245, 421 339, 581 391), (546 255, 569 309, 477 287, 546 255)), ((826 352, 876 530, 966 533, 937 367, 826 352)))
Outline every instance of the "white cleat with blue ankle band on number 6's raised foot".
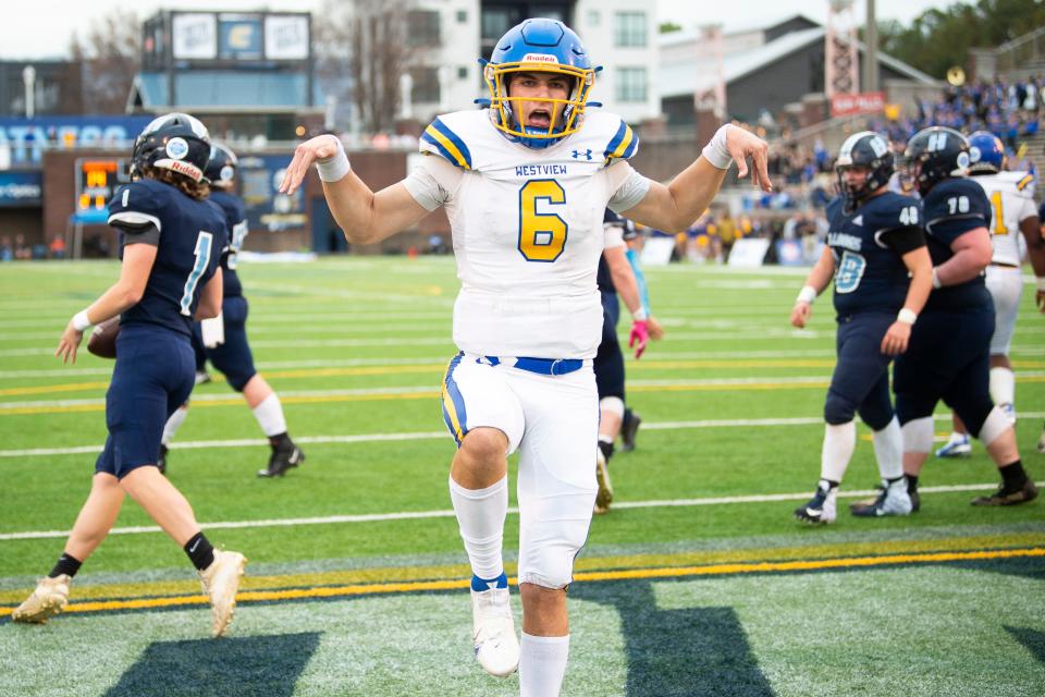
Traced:
POLYGON ((506 677, 519 668, 519 639, 515 636, 508 578, 490 582, 471 578, 471 620, 476 660, 482 670, 506 677), (477 588, 485 589, 477 590, 477 588))

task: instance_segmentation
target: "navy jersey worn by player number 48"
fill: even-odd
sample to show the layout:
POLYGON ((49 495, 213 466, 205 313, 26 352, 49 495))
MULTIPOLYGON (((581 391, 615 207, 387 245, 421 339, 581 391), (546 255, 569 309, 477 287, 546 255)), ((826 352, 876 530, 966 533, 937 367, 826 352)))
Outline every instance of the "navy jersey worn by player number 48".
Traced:
POLYGON ((903 307, 910 283, 903 259, 883 241, 890 231, 919 224, 918 201, 886 192, 868 199, 852 213, 841 198, 827 204, 827 246, 835 257, 835 310, 838 315, 903 307))

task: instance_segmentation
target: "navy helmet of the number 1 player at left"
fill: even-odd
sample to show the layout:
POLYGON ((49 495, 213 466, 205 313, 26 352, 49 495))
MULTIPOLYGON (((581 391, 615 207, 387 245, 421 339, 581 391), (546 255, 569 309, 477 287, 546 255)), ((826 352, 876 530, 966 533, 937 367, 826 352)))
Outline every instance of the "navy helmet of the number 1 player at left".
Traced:
POLYGON ((207 126, 187 113, 169 113, 153 119, 134 142, 131 178, 138 179, 149 168, 159 168, 199 183, 209 159, 207 126))

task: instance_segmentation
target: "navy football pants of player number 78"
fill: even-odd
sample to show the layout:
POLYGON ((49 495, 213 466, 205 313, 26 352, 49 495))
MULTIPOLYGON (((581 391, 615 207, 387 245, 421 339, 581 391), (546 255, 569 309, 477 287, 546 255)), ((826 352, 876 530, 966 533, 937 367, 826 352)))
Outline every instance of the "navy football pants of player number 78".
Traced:
POLYGON ((932 416, 943 400, 979 437, 994 408, 991 400, 991 335, 994 308, 922 313, 907 353, 896 359, 893 390, 900 424, 932 416))

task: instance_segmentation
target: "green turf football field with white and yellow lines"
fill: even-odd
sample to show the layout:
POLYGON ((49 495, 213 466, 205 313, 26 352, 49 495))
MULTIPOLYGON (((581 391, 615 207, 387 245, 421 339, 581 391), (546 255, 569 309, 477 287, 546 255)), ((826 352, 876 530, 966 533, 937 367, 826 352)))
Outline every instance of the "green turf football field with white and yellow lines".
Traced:
MULTIPOLYGON (((0 696, 517 694, 471 658, 438 399, 450 258, 242 266, 255 359, 308 460, 258 479, 268 448, 242 399, 221 381, 194 393, 169 475, 208 537, 250 560, 228 638, 208 638, 190 564, 133 502, 67 614, 8 621, 61 552, 104 440, 111 363, 51 354, 118 272, 0 267, 0 696)), ((810 329, 787 322, 803 273, 648 270, 668 335, 627 365, 643 425, 577 560, 563 694, 1045 694, 1045 505, 971 508, 997 479, 981 447, 930 463, 911 517, 852 518, 851 499, 831 527, 791 517, 819 476, 834 365, 829 301, 810 329)), ((1041 482, 1045 321, 1023 303, 1018 433, 1041 482)), ((845 497, 877 479, 868 433, 845 497)))

